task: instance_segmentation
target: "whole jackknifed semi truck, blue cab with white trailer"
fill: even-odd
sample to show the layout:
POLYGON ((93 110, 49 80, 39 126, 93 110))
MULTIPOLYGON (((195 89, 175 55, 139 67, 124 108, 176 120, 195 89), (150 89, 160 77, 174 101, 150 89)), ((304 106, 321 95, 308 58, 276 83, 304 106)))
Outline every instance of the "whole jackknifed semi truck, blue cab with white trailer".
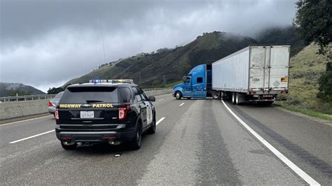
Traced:
POLYGON ((233 104, 271 104, 289 91, 290 45, 249 45, 212 64, 195 66, 173 87, 181 98, 231 98, 233 104))

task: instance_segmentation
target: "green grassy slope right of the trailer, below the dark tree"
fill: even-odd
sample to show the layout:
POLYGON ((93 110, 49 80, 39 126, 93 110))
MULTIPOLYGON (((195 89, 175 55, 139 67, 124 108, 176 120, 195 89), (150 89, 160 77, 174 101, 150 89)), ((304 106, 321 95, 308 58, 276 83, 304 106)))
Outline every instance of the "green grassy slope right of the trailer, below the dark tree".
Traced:
POLYGON ((331 103, 317 98, 318 80, 326 70, 328 58, 317 55, 318 46, 311 44, 291 57, 289 96, 283 104, 332 115, 331 103))

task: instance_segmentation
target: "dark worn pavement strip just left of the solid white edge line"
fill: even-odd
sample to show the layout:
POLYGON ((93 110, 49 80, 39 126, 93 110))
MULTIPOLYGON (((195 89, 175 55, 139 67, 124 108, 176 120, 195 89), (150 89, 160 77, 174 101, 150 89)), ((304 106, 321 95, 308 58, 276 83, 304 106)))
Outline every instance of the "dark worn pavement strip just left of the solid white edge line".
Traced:
POLYGON ((197 183, 198 185, 243 185, 221 136, 211 101, 213 100, 203 100, 202 110, 196 113, 200 116, 196 126, 200 127, 198 141, 202 147, 198 152, 200 166, 197 172, 200 176, 197 183))

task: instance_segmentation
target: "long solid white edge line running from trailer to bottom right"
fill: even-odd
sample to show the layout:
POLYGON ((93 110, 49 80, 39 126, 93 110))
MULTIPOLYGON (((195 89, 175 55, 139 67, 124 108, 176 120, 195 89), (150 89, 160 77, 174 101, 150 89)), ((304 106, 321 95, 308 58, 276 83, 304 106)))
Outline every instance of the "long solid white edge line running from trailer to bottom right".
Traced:
POLYGON ((230 110, 230 108, 228 108, 228 106, 226 105, 226 103, 223 100, 221 100, 221 101, 223 102, 223 105, 227 108, 227 110, 236 118, 236 120, 239 121, 243 125, 243 127, 245 127, 252 135, 254 135, 259 141, 261 141, 261 143, 263 143, 263 145, 265 145, 266 148, 271 150, 273 154, 275 154, 280 160, 282 160, 282 162, 284 162, 284 164, 289 166, 289 168, 291 168, 291 170, 293 170, 295 173, 297 173, 298 176, 303 178, 303 180, 305 180, 309 185, 320 185, 319 183, 317 183, 316 180, 314 180, 309 175, 307 175, 307 173, 305 173, 305 171, 302 171, 302 169, 300 169, 298 166, 296 166, 296 164, 293 164, 293 162, 291 162, 291 160, 289 160, 284 155, 282 155, 282 153, 279 152, 279 150, 277 150, 276 148, 274 148, 270 143, 268 143, 268 141, 265 141, 265 139, 262 138, 262 136, 260 136, 259 134, 256 133, 256 131, 251 129, 248 126, 248 124, 246 124, 243 120, 240 119, 240 117, 235 115, 235 113, 233 113, 233 111, 230 110))

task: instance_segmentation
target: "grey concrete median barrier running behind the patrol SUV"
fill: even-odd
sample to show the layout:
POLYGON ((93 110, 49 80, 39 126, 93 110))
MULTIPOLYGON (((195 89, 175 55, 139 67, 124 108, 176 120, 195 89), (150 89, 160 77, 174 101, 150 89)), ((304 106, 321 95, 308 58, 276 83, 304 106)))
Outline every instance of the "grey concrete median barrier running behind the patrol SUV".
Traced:
MULTIPOLYGON (((172 89, 146 91, 148 96, 158 96, 161 94, 171 93, 172 89)), ((41 113, 48 113, 48 99, 0 103, 0 120, 41 113)))

